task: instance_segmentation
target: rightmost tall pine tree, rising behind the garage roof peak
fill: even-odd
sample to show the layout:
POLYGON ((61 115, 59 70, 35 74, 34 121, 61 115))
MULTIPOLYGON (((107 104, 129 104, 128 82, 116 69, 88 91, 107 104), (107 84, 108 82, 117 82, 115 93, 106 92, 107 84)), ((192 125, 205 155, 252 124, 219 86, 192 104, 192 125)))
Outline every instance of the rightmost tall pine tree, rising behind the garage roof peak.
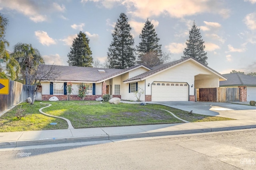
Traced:
POLYGON ((189 39, 187 39, 186 45, 187 47, 183 51, 184 56, 186 57, 194 57, 201 63, 208 65, 207 63, 207 53, 204 52, 205 45, 202 40, 202 36, 200 35, 200 29, 197 28, 195 21, 193 22, 193 26, 191 31, 189 31, 189 39))

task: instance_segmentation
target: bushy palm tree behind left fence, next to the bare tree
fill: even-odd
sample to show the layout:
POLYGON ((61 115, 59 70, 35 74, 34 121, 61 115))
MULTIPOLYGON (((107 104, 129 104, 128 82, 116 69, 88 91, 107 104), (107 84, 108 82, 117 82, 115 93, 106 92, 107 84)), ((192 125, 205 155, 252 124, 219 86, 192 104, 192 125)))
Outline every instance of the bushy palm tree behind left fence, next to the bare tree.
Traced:
POLYGON ((33 84, 38 66, 44 64, 44 59, 38 49, 33 48, 31 44, 17 43, 14 45, 11 56, 20 65, 20 73, 22 74, 23 80, 25 79, 25 84, 33 84))

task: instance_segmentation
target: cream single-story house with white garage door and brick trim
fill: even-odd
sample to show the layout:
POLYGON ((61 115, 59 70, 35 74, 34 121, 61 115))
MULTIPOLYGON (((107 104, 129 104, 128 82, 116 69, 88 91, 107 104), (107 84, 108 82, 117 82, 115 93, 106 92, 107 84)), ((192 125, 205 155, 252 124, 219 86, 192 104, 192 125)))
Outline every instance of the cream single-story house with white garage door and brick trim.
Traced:
MULTIPOLYGON (((51 65, 40 65, 43 73, 51 65)), ((95 100, 104 94, 111 98, 136 100, 134 93, 144 90, 141 101, 195 101, 195 88, 217 88, 224 76, 194 58, 180 59, 149 68, 144 64, 127 69, 91 68, 77 66, 54 66, 60 76, 55 80, 41 80, 42 100, 57 96, 66 100, 66 83, 72 82, 72 100, 77 97, 77 84, 89 87, 85 100, 95 100)))

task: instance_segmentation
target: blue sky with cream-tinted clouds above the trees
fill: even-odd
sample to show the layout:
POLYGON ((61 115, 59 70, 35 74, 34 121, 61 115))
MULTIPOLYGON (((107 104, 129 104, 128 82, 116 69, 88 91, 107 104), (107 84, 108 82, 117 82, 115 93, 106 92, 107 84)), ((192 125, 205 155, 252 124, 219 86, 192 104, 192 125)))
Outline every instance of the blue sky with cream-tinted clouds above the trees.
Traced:
POLYGON ((79 31, 90 39, 92 57, 104 63, 122 12, 135 45, 149 18, 162 50, 178 60, 195 21, 208 66, 222 74, 256 72, 256 0, 0 0, 0 13, 9 20, 8 50, 18 42, 31 43, 46 64, 55 65, 68 65, 67 54, 79 31))

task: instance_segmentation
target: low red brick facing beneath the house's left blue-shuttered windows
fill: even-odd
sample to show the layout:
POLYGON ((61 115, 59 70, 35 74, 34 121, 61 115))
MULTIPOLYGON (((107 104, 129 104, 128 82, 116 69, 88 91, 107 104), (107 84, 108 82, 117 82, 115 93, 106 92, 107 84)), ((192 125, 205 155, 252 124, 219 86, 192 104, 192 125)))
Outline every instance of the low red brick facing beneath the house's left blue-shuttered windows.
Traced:
MULTIPOLYGON (((67 100, 67 95, 46 95, 42 94, 42 101, 47 101, 51 97, 56 96, 60 101, 66 101, 67 100)), ((86 95, 84 100, 95 100, 96 98, 101 97, 101 95, 86 95)), ((70 95, 70 100, 81 100, 80 97, 77 95, 70 95)))

